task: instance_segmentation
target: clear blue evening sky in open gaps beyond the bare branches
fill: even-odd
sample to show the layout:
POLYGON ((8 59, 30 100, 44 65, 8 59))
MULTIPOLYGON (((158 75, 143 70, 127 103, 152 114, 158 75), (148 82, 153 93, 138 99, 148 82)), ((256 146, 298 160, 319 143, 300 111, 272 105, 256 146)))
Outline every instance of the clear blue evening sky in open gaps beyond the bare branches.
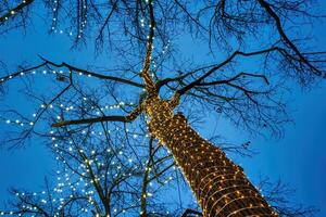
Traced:
MULTIPOLYGON (((71 50, 71 42, 66 36, 49 36, 47 29, 43 24, 36 23, 26 35, 22 31, 11 31, 0 38, 0 60, 8 64, 9 71, 24 61, 36 63, 38 54, 53 61, 66 61, 84 66, 92 63, 110 64, 106 62, 108 56, 95 58, 93 48, 71 50)), ((326 50, 326 24, 314 26, 311 34, 316 48, 326 50)), ((187 42, 189 41, 184 41, 184 47, 190 49, 191 44, 187 42)), ((5 73, 0 72, 0 76, 5 73)), ((23 100, 14 98, 14 89, 9 91, 11 99, 8 100, 22 108, 23 100)), ((235 143, 250 140, 259 154, 252 158, 234 156, 234 159, 242 165, 251 180, 256 182, 260 177, 265 176, 273 181, 280 179, 297 190, 291 200, 316 206, 321 209, 316 216, 325 217, 326 82, 321 82, 318 87, 309 91, 293 86, 289 99, 294 124, 286 126, 281 139, 252 137, 236 129, 227 120, 216 118, 216 115, 200 125, 200 132, 209 137, 215 129, 218 135, 235 143)), ((24 110, 32 112, 29 107, 24 110)), ((5 124, 0 123, 0 131, 5 130, 5 124)), ((41 188, 43 177, 51 173, 53 165, 51 155, 37 141, 21 150, 0 150, 0 201, 9 199, 10 187, 29 190, 41 188)))

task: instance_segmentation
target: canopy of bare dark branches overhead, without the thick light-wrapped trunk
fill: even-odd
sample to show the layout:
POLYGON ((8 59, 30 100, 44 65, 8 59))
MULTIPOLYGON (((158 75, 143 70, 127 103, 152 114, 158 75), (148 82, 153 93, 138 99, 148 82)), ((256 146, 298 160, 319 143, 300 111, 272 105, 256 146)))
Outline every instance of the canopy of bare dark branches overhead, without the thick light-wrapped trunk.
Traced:
MULTIPOLYGON (((150 93, 141 73, 149 72, 163 99, 180 98, 177 111, 193 125, 216 114, 250 133, 281 137, 291 122, 287 97, 293 84, 310 89, 326 78, 326 52, 308 34, 325 18, 318 10, 315 1, 300 0, 1 1, 1 40, 46 31, 71 48, 62 55, 67 59, 49 51, 14 66, 0 56, 1 145, 45 143, 60 162, 58 179, 65 179, 54 188, 57 199, 52 181, 42 193, 48 199, 12 190, 13 214, 184 213, 170 210, 163 193, 147 199, 170 181, 181 191, 184 180, 141 114, 150 93), (89 50, 93 56, 78 55, 89 50)), ((211 140, 253 154, 248 143, 211 140)), ((285 216, 314 210, 269 201, 285 216)))

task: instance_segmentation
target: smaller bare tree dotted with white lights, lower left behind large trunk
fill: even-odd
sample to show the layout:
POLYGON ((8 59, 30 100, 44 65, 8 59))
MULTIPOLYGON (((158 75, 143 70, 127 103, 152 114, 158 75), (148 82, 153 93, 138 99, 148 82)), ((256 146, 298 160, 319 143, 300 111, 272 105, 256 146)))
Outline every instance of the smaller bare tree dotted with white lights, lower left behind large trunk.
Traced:
MULTIPOLYGON (((123 129, 120 131, 125 133, 123 129)), ((137 135, 137 138, 130 138, 134 141, 120 140, 118 144, 114 144, 113 141, 118 141, 114 138, 117 135, 109 133, 108 129, 96 132, 89 129, 73 136, 65 131, 54 137, 51 148, 59 163, 55 176, 50 181, 46 179, 41 192, 12 189, 15 200, 9 204, 7 212, 0 214, 106 217, 128 213, 137 216, 139 209, 143 213, 151 208, 158 215, 171 216, 165 212, 168 209, 163 208, 165 204, 150 200, 160 191, 160 186, 152 184, 155 177, 149 177, 150 167, 143 166, 146 161, 140 158, 141 155, 134 155, 128 149, 130 143, 141 144, 142 136, 134 133, 137 135), (100 137, 100 133, 105 137, 100 137)), ((149 146, 153 149, 152 140, 149 146)), ((141 145, 138 149, 141 150, 141 145)), ((154 163, 150 157, 153 156, 148 156, 148 164, 154 163)))

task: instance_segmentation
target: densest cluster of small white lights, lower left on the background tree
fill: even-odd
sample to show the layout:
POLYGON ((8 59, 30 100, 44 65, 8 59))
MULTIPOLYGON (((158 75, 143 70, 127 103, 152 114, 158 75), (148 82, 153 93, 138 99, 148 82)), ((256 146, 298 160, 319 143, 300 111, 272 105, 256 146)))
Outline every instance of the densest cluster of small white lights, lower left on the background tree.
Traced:
MULTIPOLYGON (((70 142, 72 143, 72 142, 70 142)), ((58 146, 57 146, 58 148, 58 146)), ((70 148, 71 150, 73 150, 74 148, 70 148)), ((82 152, 84 153, 85 151, 84 150, 77 150, 78 152, 82 152)), ((95 153, 96 151, 90 151, 90 153, 95 153)), ((108 149, 108 153, 111 152, 111 149, 108 149)), ((58 151, 59 154, 62 154, 62 151, 58 151)), ((120 152, 118 154, 123 154, 123 152, 120 152)), ((65 161, 62 161, 62 157, 60 157, 60 155, 58 155, 57 157, 58 161, 60 161, 59 163, 63 163, 63 164, 66 164, 65 161)), ((82 163, 79 166, 78 166, 78 169, 83 169, 85 170, 82 175, 83 176, 87 176, 87 175, 90 175, 90 167, 92 164, 95 164, 95 162, 99 161, 98 158, 95 158, 95 159, 86 159, 84 163, 82 163)), ((133 163, 133 158, 129 158, 128 159, 129 163, 133 163)), ((104 165, 103 163, 97 163, 97 165, 104 165)), ((121 177, 128 177, 128 176, 133 176, 130 173, 127 173, 127 174, 117 174, 122 167, 118 165, 118 164, 112 164, 114 165, 115 169, 116 169, 116 174, 112 174, 113 170, 114 170, 114 167, 112 167, 112 169, 110 169, 108 171, 108 175, 112 174, 114 175, 114 177, 117 177, 117 176, 121 176, 121 177)), ((137 165, 135 165, 134 167, 130 167, 133 168, 134 170, 136 170, 138 168, 137 165)), ((101 182, 102 180, 105 180, 104 178, 104 175, 101 175, 100 177, 96 176, 95 175, 95 178, 93 180, 89 180, 89 179, 86 179, 84 178, 83 176, 78 176, 77 175, 77 178, 75 177, 72 177, 74 175, 76 175, 76 173, 67 173, 67 169, 65 168, 63 171, 61 170, 57 170, 57 180, 58 180, 58 183, 57 186, 52 189, 52 192, 53 193, 57 193, 59 195, 59 197, 57 196, 48 196, 47 195, 47 192, 46 191, 41 191, 41 192, 34 192, 33 194, 27 194, 27 193, 16 193, 15 195, 17 197, 30 197, 32 195, 37 197, 39 203, 42 204, 42 205, 46 205, 48 203, 51 203, 51 204, 58 204, 57 206, 57 213, 54 214, 54 217, 59 217, 61 216, 61 212, 62 212, 62 208, 64 208, 64 205, 66 204, 66 202, 68 202, 71 199, 73 199, 74 196, 85 196, 88 199, 88 202, 90 204, 95 204, 96 203, 96 192, 91 189, 89 189, 89 187, 91 187, 95 182, 101 182), (79 194, 75 194, 77 193, 77 191, 79 192, 79 194), (65 192, 71 192, 68 195, 64 194, 65 192), (80 192, 82 192, 82 195, 80 195, 80 192), (50 200, 50 201, 49 201, 50 200)), ((152 184, 150 184, 152 186, 152 184)), ((151 192, 148 192, 146 194, 148 197, 152 196, 153 193, 151 192)), ((28 203, 27 203, 28 204, 28 203)), ((52 205, 51 205, 52 206, 52 205)), ((136 204, 131 205, 131 206, 135 206, 136 207, 136 204)), ((26 213, 37 213, 39 212, 39 208, 40 206, 39 205, 24 205, 21 207, 23 208, 23 210, 25 210, 26 213)), ((42 207, 41 207, 42 208, 42 207)), ((83 213, 88 213, 90 209, 87 208, 87 207, 83 207, 82 208, 82 212, 83 213)), ((122 212, 122 213, 126 213, 127 210, 122 208, 121 210, 118 210, 118 208, 112 208, 113 213, 117 213, 117 212, 122 212)), ((21 213, 21 210, 9 210, 9 212, 0 212, 0 215, 13 215, 13 216, 23 216, 23 214, 21 213)), ((99 214, 97 214, 97 216, 100 216, 99 214)))

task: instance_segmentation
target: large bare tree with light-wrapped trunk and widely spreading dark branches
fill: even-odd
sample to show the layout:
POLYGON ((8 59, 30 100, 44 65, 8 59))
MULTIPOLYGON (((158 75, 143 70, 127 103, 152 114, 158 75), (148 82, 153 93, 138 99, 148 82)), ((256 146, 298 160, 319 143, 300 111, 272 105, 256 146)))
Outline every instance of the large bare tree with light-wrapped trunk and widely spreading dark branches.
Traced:
MULTIPOLYGON (((222 149, 201 138, 184 114, 201 106, 223 114, 248 131, 269 130, 272 135, 280 135, 281 126, 289 122, 281 95, 289 87, 287 80, 291 78, 302 87, 311 87, 315 80, 325 77, 325 52, 305 51, 303 39, 293 38, 286 30, 291 27, 287 21, 296 16, 302 18, 299 22, 322 17, 308 10, 310 3, 294 0, 196 3, 178 0, 45 1, 53 15, 52 33, 67 33, 74 40, 74 48, 91 40, 96 41, 98 52, 109 46, 122 61, 110 73, 96 73, 95 66, 84 69, 41 56, 39 64, 22 66, 3 76, 0 80, 5 85, 17 77, 36 74, 36 69, 43 69, 43 74, 50 71, 55 74, 53 84, 60 88, 54 97, 37 98, 42 104, 34 120, 16 110, 3 111, 7 123, 12 123, 9 115, 21 116, 14 123, 29 126, 20 131, 20 137, 7 139, 7 143, 22 144, 34 132, 40 135, 36 126, 45 129, 41 122, 45 119, 59 131, 67 129, 70 133, 80 126, 91 127, 97 123, 137 124, 143 129, 148 127, 150 136, 172 153, 203 216, 278 216, 250 183, 242 168, 235 165, 222 149), (58 29, 60 24, 63 27, 58 29), (183 31, 204 41, 210 52, 204 63, 183 62, 177 49, 170 48, 183 31), (162 47, 163 51, 156 53, 154 47, 162 47), (224 60, 220 56, 222 52, 224 60), (259 66, 254 72, 248 72, 246 64, 253 63, 259 66), (76 78, 77 75, 104 80, 105 90, 99 81, 101 93, 98 99, 93 98, 85 85, 78 85, 82 80, 76 78), (106 114, 98 106, 102 104, 103 95, 116 101, 121 111, 106 114), (124 103, 129 100, 120 100, 131 98, 133 104, 124 103), (88 100, 89 103, 85 102, 88 100), (66 114, 71 107, 64 105, 71 101, 76 101, 78 106, 66 114), (63 106, 49 112, 54 103, 63 106), (176 107, 184 114, 175 113, 176 107), (145 118, 139 119, 142 115, 145 118)), ((10 28, 7 25, 11 20, 16 22, 15 9, 23 13, 34 2, 25 1, 20 5, 0 20, 3 31, 10 28)))

